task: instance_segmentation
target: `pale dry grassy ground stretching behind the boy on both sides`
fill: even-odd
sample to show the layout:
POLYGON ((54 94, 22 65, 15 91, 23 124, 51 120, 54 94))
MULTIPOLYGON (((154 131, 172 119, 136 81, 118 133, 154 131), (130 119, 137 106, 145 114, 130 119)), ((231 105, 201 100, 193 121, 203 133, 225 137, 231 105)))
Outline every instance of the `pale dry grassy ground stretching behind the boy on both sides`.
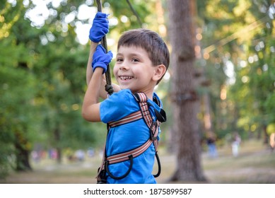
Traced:
MULTIPOLYGON (((176 158, 165 150, 159 151, 162 173, 157 178, 158 183, 168 183, 175 171, 176 158)), ((32 162, 33 171, 26 173, 11 173, 0 183, 95 183, 95 175, 101 158, 95 156, 86 158, 83 162, 64 161, 59 165, 49 159, 32 162)), ((209 158, 207 153, 201 155, 204 175, 209 183, 275 183, 275 151, 272 153, 267 146, 259 141, 242 143, 238 157, 233 157, 230 145, 218 148, 218 157, 209 158)))

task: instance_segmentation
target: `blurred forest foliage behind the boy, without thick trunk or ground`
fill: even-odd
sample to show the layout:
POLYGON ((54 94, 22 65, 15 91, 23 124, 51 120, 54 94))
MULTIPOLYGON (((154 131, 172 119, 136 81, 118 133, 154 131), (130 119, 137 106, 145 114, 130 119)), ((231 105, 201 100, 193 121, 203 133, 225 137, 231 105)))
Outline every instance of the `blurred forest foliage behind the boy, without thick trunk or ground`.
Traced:
MULTIPOLYGON (((110 13, 109 50, 116 52, 125 30, 143 27, 158 32, 175 53, 167 1, 127 2, 103 1, 110 13)), ((201 151, 209 133, 218 147, 235 132, 242 141, 269 144, 275 132, 274 6, 266 0, 192 1, 201 151)), ((0 1, 0 178, 31 170, 33 151, 56 151, 62 163, 79 149, 103 148, 106 126, 81 117, 96 12, 93 0, 0 1)), ((157 87, 168 115, 160 146, 168 152, 177 150, 172 78, 171 66, 157 87)))

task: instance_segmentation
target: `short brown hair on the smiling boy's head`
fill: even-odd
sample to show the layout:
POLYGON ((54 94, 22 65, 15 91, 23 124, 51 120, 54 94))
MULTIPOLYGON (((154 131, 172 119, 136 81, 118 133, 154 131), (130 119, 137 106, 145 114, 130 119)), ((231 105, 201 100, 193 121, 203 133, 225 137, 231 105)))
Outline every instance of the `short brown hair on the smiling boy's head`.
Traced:
MULTIPOLYGON (((141 47, 148 52, 148 57, 151 59, 153 65, 164 64, 166 71, 168 70, 170 63, 169 50, 158 33, 144 28, 128 30, 119 38, 117 50, 119 50, 120 46, 141 47)), ((161 81, 163 76, 157 84, 161 81)))

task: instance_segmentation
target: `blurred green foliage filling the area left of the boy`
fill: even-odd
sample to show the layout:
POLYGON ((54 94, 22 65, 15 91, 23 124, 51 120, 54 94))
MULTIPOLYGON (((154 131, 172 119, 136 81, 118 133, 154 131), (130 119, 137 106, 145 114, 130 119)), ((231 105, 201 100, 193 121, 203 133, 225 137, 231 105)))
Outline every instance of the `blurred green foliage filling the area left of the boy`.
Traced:
MULTIPOLYGON (((25 169, 21 160, 28 156, 18 156, 21 150, 30 154, 37 144, 44 149, 95 147, 106 130, 81 117, 88 46, 76 42, 74 29, 61 34, 59 15, 33 27, 24 17, 31 3, 1 6, 0 19, 8 27, 0 31, 0 175, 5 177, 16 165, 25 169)), ((68 11, 66 6, 58 10, 63 8, 68 11)))

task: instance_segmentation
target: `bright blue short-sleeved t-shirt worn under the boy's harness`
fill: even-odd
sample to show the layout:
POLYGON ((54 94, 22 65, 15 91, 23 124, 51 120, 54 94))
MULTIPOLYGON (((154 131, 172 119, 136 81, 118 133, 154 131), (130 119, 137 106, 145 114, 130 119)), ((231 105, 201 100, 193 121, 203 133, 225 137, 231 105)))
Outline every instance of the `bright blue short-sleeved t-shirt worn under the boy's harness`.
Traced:
MULTIPOLYGON (((156 97, 160 101, 156 93, 153 93, 153 97, 156 97)), ((160 111, 160 107, 150 99, 148 99, 148 103, 151 103, 149 110, 153 120, 155 121, 156 115, 153 109, 155 108, 160 111)), ((138 110, 140 110, 139 103, 136 101, 129 89, 124 89, 118 93, 113 93, 110 98, 107 98, 100 104, 100 118, 104 123, 114 122, 121 120, 123 117, 138 110)), ((149 136, 150 132, 146 122, 144 122, 144 119, 122 124, 117 127, 112 127, 109 130, 106 140, 107 156, 112 156, 117 153, 124 153, 125 151, 137 148, 144 144, 148 140, 149 136)), ((124 177, 121 180, 114 180, 112 177, 107 177, 107 183, 156 183, 155 177, 152 175, 154 161, 155 148, 153 144, 151 144, 151 146, 144 153, 134 158, 133 167, 127 177, 124 177)), ((129 165, 130 161, 115 163, 109 165, 109 170, 112 175, 120 177, 127 172, 129 165)))

